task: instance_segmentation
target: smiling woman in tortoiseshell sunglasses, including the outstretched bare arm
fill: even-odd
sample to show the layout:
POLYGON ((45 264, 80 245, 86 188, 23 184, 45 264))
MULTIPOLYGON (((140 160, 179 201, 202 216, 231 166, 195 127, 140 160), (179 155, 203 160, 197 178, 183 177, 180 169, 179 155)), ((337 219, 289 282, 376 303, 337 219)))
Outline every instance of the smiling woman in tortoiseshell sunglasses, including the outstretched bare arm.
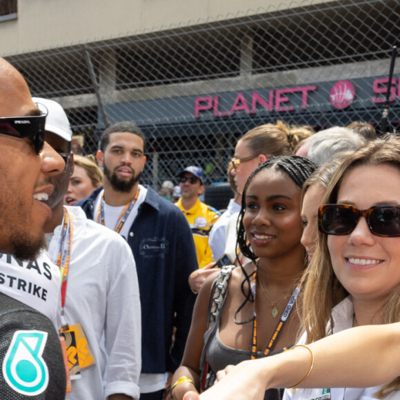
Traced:
POLYGON ((262 399, 261 388, 284 386, 314 388, 286 390, 294 399, 400 398, 399 323, 394 323, 400 321, 399 139, 374 141, 350 155, 334 173, 323 203, 301 340, 317 342, 258 365, 242 364, 201 399, 228 399, 215 396, 223 391, 232 396, 231 389, 235 399, 262 399), (393 324, 371 326, 379 323, 393 324), (366 327, 347 330, 354 326, 366 327), (245 381, 254 381, 246 397, 241 383, 232 385, 239 370, 245 381))

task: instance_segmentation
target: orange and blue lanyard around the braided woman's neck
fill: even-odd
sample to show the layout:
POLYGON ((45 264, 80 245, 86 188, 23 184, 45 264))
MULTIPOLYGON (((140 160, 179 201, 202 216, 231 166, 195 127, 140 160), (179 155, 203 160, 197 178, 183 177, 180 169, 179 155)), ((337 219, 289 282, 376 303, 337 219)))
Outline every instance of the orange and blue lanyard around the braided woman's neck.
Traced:
MULTIPOLYGON (((258 268, 258 266, 257 266, 257 268, 258 268)), ((273 350, 283 326, 285 326, 286 321, 288 321, 290 312, 292 312, 292 310, 294 308, 294 304, 296 303, 297 297, 299 296, 299 293, 301 292, 301 289, 303 288, 304 281, 306 280, 306 271, 307 271, 307 269, 305 269, 303 271, 303 274, 301 274, 299 283, 297 283, 296 288, 294 288, 292 295, 290 296, 288 304, 286 305, 286 308, 283 311, 281 320, 278 322, 277 328, 275 328, 275 331, 272 334, 272 337, 270 339, 270 342, 268 343, 268 346, 266 347, 266 350, 264 350, 264 356, 268 356, 268 354, 270 354, 270 352, 273 350)), ((252 334, 252 347, 251 347, 251 359, 252 360, 257 358, 256 281, 257 281, 257 269, 254 274, 254 278, 252 279, 252 293, 253 293, 253 297, 254 297, 253 334, 252 334)))

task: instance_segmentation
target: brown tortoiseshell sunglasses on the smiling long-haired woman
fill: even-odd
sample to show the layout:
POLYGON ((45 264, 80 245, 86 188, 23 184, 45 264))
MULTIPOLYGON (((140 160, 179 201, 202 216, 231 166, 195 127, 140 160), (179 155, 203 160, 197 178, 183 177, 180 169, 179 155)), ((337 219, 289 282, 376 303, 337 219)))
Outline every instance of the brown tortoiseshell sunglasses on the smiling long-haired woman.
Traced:
POLYGON ((372 234, 400 236, 400 206, 373 206, 359 210, 348 204, 324 204, 318 210, 318 229, 326 234, 350 234, 364 217, 372 234))

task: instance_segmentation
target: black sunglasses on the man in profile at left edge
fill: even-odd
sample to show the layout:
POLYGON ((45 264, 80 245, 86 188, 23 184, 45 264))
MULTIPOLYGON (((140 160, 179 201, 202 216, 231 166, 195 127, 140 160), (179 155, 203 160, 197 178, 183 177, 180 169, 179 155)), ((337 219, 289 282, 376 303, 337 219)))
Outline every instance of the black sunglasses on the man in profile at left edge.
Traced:
POLYGON ((0 133, 21 139, 29 137, 34 144, 34 150, 39 154, 43 149, 45 124, 44 114, 30 117, 0 117, 0 133))

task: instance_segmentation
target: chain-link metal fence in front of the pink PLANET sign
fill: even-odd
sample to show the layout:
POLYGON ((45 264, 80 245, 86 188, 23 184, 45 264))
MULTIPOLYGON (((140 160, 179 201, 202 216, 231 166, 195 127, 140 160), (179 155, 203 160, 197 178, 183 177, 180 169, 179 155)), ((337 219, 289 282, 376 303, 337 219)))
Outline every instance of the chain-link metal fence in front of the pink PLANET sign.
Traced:
MULTIPOLYGON (((130 120, 148 137, 146 183, 188 165, 212 183, 226 181, 237 139, 261 123, 379 128, 399 21, 397 0, 298 1, 6 58, 34 96, 66 108, 84 154, 109 123, 130 120)), ((399 75, 397 63, 392 128, 399 75)))

